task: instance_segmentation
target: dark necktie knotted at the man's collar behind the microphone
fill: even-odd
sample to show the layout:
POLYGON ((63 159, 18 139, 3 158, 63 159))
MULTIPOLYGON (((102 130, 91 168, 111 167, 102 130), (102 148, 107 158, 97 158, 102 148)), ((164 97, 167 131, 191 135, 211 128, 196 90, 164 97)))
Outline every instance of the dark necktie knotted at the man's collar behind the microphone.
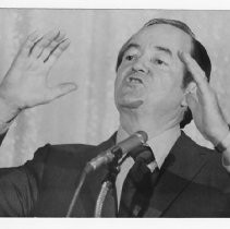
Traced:
POLYGON ((154 154, 147 146, 130 153, 135 164, 130 169, 122 188, 118 217, 142 217, 148 207, 159 170, 147 167, 154 161, 154 154))

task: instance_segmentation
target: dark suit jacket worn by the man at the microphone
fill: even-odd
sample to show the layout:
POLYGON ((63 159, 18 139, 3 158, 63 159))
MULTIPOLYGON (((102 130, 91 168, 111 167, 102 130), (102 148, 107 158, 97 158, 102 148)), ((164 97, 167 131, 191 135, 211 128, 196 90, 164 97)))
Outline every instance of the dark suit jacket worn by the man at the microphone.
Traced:
MULTIPOLYGON (((98 146, 48 144, 24 166, 1 169, 0 216, 65 216, 85 162, 111 147, 114 138, 98 146)), ((94 216, 106 173, 102 167, 86 178, 75 217, 94 216)), ((182 132, 148 201, 144 217, 229 217, 230 178, 221 155, 197 145, 182 132)))

